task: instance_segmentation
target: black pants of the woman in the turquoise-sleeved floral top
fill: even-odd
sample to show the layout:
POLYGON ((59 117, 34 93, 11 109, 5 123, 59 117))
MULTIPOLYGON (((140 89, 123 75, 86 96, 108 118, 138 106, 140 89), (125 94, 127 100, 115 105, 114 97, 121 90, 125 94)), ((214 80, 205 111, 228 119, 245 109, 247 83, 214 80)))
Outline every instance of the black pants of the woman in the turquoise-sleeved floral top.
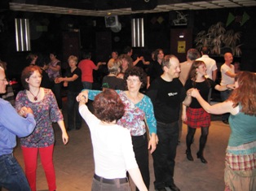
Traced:
MULTIPOLYGON (((132 136, 132 144, 134 146, 135 158, 139 166, 144 184, 149 189, 149 167, 148 167, 148 139, 147 132, 143 136, 132 136)), ((139 191, 139 189, 136 188, 139 191)))

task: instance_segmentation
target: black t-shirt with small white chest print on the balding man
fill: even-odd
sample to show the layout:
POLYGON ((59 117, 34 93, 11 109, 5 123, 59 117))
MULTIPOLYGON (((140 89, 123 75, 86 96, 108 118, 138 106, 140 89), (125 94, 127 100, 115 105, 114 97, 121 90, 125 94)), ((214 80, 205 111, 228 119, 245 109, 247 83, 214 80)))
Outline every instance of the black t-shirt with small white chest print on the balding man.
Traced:
POLYGON ((179 78, 169 82, 158 77, 152 81, 147 95, 152 100, 157 121, 170 124, 179 120, 180 103, 186 98, 179 78))

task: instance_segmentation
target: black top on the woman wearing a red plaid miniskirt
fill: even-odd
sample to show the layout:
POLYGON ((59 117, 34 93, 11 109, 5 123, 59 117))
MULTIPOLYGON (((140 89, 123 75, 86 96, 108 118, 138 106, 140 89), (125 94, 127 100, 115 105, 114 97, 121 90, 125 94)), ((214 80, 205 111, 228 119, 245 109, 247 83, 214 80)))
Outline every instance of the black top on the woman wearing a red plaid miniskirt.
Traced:
MULTIPOLYGON (((207 78, 203 82, 195 82, 193 85, 193 81, 191 79, 188 79, 185 84, 185 89, 191 89, 191 88, 196 88, 199 90, 201 97, 204 98, 204 100, 207 102, 208 100, 208 94, 210 92, 210 88, 213 88, 217 84, 214 82, 214 80, 210 80, 210 78, 207 78)), ((200 103, 197 101, 196 98, 192 98, 192 102, 190 104, 191 108, 201 108, 200 103)))

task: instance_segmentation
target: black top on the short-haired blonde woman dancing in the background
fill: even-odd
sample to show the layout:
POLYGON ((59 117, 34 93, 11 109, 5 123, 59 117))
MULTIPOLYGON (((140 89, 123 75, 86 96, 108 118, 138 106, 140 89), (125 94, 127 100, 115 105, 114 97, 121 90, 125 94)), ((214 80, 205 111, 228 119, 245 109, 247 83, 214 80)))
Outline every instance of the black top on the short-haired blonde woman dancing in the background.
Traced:
POLYGON ((74 74, 76 74, 77 80, 68 81, 68 91, 70 92, 81 92, 83 89, 82 86, 82 71, 79 67, 77 67, 73 72, 68 70, 67 77, 72 77, 74 74))

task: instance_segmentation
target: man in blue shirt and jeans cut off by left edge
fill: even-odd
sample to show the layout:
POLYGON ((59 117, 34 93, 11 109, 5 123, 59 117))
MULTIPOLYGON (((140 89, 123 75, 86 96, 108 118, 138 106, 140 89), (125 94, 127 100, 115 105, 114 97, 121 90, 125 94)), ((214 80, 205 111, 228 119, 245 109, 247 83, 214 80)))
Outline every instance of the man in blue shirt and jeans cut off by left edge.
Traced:
MULTIPOLYGON (((0 93, 6 93, 7 85, 4 66, 0 63, 0 93)), ((0 114, 0 189, 29 191, 29 183, 13 156, 13 149, 16 136, 26 137, 33 132, 36 125, 33 111, 29 107, 22 107, 20 116, 10 102, 0 98, 0 114)))

